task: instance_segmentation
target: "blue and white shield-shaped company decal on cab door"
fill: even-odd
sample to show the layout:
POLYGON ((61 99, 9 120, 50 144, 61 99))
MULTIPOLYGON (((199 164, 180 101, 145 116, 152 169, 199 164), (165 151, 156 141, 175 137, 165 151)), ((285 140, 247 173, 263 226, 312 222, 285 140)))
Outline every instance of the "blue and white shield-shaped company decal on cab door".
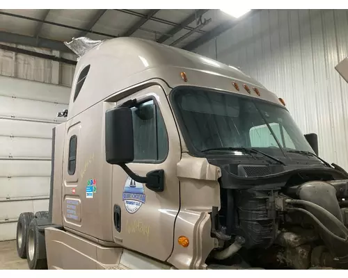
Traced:
POLYGON ((143 183, 139 183, 127 177, 125 187, 123 188, 122 201, 128 213, 136 211, 145 204, 145 190, 143 183))

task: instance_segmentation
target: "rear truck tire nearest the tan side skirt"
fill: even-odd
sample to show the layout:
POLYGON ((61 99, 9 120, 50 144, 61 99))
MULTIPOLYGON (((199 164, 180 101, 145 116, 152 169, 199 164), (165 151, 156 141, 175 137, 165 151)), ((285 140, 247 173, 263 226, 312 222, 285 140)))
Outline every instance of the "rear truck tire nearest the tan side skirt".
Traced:
POLYGON ((26 237, 26 260, 29 269, 47 269, 45 234, 38 229, 37 219, 33 218, 29 224, 26 237))

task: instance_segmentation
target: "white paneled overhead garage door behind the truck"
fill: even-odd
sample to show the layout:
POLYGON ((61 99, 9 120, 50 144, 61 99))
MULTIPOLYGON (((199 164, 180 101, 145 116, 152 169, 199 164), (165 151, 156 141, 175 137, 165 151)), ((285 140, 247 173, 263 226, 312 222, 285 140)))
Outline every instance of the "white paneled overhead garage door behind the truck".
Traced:
POLYGON ((70 88, 0 76, 0 241, 24 211, 47 211, 52 129, 70 88))

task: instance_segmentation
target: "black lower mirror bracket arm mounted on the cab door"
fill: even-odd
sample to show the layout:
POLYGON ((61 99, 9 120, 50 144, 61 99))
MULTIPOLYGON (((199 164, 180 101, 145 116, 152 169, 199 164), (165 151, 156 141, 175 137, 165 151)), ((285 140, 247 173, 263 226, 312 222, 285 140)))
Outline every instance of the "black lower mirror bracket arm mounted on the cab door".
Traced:
POLYGON ((153 170, 146 174, 146 177, 141 177, 129 169, 125 163, 119 164, 120 167, 127 173, 131 179, 139 183, 145 183, 145 186, 155 192, 164 191, 164 170, 153 170))

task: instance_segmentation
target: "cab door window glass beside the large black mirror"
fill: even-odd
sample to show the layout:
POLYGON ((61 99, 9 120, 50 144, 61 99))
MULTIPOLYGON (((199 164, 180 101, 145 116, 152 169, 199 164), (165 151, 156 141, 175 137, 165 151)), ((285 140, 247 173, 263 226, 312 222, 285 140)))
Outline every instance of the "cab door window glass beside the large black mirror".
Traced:
POLYGON ((134 162, 163 161, 168 154, 168 136, 158 106, 149 100, 132 108, 134 162))

